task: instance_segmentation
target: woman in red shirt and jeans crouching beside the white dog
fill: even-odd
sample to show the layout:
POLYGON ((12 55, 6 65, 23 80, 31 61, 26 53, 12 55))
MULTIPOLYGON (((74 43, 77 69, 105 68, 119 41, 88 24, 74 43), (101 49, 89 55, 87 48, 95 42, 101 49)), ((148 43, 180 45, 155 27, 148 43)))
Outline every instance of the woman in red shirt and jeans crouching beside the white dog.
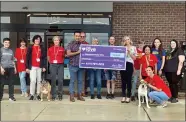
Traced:
POLYGON ((146 72, 148 77, 145 81, 147 81, 148 86, 154 90, 149 93, 150 99, 157 102, 160 105, 158 107, 166 107, 167 100, 171 98, 169 87, 158 75, 154 74, 152 66, 148 66, 146 72))

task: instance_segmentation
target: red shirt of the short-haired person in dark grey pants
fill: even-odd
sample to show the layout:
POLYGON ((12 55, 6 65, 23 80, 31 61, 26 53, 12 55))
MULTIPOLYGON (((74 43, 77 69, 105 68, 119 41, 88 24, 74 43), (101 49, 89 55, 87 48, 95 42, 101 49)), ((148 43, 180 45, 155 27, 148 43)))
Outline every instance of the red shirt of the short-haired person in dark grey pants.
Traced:
POLYGON ((52 46, 48 49, 48 56, 50 63, 62 64, 64 63, 65 50, 60 46, 52 46))

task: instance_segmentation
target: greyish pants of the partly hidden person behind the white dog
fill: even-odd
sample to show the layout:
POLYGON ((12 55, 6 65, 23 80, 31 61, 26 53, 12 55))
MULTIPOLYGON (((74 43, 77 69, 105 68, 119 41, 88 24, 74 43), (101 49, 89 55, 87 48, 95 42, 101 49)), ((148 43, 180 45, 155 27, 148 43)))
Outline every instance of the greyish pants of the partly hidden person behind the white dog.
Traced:
POLYGON ((140 75, 140 70, 136 70, 136 71, 135 71, 135 74, 133 74, 133 76, 132 76, 132 96, 135 95, 135 92, 136 92, 136 84, 137 84, 139 75, 140 75))

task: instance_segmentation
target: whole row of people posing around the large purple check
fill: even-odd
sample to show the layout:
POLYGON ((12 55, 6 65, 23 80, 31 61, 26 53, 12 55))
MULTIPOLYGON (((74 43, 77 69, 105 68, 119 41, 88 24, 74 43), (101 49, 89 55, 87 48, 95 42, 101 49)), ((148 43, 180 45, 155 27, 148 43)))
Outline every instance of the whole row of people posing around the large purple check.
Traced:
MULTIPOLYGON (((28 97, 26 86, 26 74, 30 76, 30 99, 34 96, 40 98, 40 84, 42 74, 46 71, 49 63, 51 75, 51 95, 52 100, 63 99, 63 79, 64 79, 64 59, 68 57, 70 83, 69 93, 70 101, 75 102, 74 83, 77 82, 77 100, 85 101, 83 95, 87 93, 86 76, 89 76, 90 97, 95 99, 94 82, 97 83, 97 98, 101 97, 101 69, 82 69, 79 67, 80 45, 88 44, 85 32, 74 32, 74 40, 71 41, 66 49, 60 46, 60 37, 54 36, 54 45, 45 51, 41 46, 42 38, 35 35, 32 39, 33 45, 26 47, 27 42, 20 40, 20 47, 14 52, 9 48, 11 40, 3 39, 3 47, 0 50, 0 100, 3 98, 4 83, 9 85, 9 99, 16 101, 14 98, 13 75, 18 72, 21 84, 22 96, 28 97), (58 81, 58 90, 56 90, 56 81, 58 81), (37 90, 36 89, 37 84, 37 90), (36 91, 36 93, 35 93, 36 91)), ((94 38, 91 45, 99 45, 99 40, 94 38)), ((109 45, 115 45, 115 37, 109 38, 109 45)), ((170 41, 170 50, 165 51, 163 43, 159 38, 153 40, 152 46, 145 45, 142 40, 137 41, 137 46, 133 45, 130 36, 125 36, 121 42, 122 46, 127 48, 126 70, 121 70, 121 88, 122 103, 135 101, 136 85, 139 79, 144 79, 151 88, 149 97, 161 106, 166 106, 166 101, 172 103, 178 102, 178 82, 181 78, 183 62, 185 55, 179 48, 176 40, 170 41), (162 80, 161 76, 165 74, 169 87, 162 80)), ((104 70, 107 80, 107 99, 114 98, 115 81, 117 71, 104 70)))

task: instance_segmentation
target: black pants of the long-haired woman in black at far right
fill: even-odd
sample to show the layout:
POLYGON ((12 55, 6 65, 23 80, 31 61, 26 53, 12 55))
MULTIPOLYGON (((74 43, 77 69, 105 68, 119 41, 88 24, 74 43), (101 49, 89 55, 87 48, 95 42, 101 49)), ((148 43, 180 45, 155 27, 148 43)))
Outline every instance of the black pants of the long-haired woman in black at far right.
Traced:
POLYGON ((169 88, 173 98, 178 98, 178 83, 181 76, 177 75, 176 72, 165 72, 165 77, 169 82, 169 88))

